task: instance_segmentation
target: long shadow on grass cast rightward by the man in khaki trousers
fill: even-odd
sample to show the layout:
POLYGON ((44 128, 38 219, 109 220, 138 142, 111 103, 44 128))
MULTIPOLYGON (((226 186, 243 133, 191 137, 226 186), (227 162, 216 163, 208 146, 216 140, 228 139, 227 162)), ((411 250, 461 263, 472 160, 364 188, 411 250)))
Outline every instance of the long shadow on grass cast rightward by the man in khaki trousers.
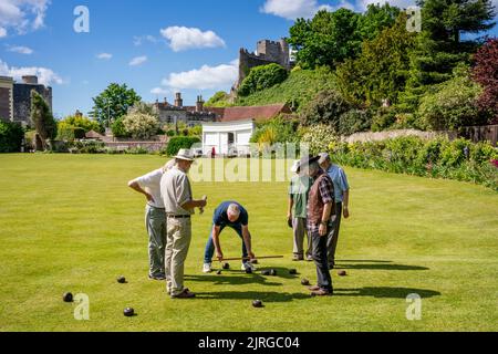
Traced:
POLYGON ((304 293, 289 293, 274 291, 218 291, 196 292, 196 299, 205 300, 261 300, 264 302, 290 302, 293 300, 311 299, 304 293))

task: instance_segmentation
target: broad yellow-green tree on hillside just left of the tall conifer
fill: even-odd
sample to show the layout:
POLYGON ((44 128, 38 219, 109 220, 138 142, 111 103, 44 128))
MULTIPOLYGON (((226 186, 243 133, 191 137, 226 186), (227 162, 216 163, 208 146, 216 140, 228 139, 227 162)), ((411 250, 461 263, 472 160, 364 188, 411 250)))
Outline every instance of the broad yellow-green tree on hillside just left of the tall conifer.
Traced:
POLYGON ((380 106, 383 100, 397 102, 409 69, 409 52, 415 34, 406 31, 406 14, 392 28, 363 43, 360 58, 339 65, 338 84, 343 95, 359 106, 380 106))

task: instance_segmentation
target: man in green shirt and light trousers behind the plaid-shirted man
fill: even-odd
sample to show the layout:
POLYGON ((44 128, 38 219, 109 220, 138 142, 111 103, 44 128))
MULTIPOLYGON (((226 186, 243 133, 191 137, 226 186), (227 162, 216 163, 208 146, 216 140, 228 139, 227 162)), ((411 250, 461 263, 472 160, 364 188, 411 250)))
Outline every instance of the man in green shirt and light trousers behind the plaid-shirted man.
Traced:
POLYGON ((300 168, 299 160, 295 160, 291 167, 291 171, 295 175, 292 176, 289 186, 289 204, 287 209, 287 222, 293 230, 293 261, 304 260, 304 233, 308 238, 307 261, 312 261, 312 247, 311 238, 307 231, 307 204, 308 194, 313 179, 303 174, 300 168))

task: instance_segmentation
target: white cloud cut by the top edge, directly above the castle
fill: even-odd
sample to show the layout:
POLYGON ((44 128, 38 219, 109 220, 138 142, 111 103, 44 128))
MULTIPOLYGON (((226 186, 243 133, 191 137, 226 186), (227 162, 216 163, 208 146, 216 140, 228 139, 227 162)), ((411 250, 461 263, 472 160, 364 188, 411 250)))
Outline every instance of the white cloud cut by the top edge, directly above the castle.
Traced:
POLYGON ((261 12, 274 14, 288 20, 310 19, 320 10, 332 11, 329 4, 319 4, 317 0, 267 0, 261 12))

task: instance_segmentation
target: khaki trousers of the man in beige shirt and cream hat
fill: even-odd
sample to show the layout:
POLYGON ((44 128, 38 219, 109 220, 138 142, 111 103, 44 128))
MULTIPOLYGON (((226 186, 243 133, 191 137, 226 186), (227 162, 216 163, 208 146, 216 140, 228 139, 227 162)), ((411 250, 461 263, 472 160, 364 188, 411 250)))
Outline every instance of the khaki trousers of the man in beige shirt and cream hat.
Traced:
POLYGON ((166 237, 166 287, 172 295, 184 291, 184 269, 191 240, 191 220, 189 218, 167 220, 166 237))

